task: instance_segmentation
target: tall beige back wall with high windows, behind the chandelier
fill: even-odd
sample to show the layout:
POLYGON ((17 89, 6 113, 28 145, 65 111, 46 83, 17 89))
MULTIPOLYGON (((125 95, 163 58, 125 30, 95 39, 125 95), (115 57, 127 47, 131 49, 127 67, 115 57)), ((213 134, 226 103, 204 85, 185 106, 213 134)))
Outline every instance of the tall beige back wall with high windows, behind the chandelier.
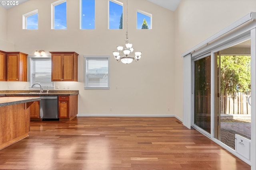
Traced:
MULTIPOLYGON (((120 1, 126 5, 125 0, 120 1)), ((29 55, 40 49, 79 54, 78 82, 56 82, 60 90, 63 86, 79 90, 78 114, 174 114, 174 12, 146 0, 128 2, 128 37, 135 51, 142 51, 142 58, 138 63, 126 65, 117 63, 112 56, 117 45, 124 45, 126 29, 108 30, 107 0, 96 0, 95 30, 79 29, 79 0, 67 0, 67 30, 52 30, 52 2, 30 0, 7 10, 7 40, 15 44, 15 51, 29 55), (35 9, 38 9, 38 30, 22 29, 22 14, 35 9), (136 10, 152 14, 153 29, 136 29, 136 10), (84 90, 83 55, 111 56, 110 90, 84 90)), ((29 82, 0 82, 0 85, 22 90, 23 86, 28 88, 29 82)))

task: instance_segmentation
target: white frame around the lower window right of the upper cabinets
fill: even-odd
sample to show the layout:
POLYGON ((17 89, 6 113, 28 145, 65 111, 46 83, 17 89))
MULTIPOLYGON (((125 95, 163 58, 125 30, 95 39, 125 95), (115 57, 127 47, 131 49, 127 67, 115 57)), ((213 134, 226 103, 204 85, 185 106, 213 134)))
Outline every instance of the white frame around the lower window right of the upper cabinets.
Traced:
POLYGON ((109 55, 84 55, 84 89, 110 89, 110 72, 109 72, 109 68, 110 68, 110 56, 109 55), (86 68, 86 61, 87 59, 107 59, 108 60, 108 87, 88 87, 87 86, 87 78, 86 78, 86 74, 87 74, 87 68, 86 68))

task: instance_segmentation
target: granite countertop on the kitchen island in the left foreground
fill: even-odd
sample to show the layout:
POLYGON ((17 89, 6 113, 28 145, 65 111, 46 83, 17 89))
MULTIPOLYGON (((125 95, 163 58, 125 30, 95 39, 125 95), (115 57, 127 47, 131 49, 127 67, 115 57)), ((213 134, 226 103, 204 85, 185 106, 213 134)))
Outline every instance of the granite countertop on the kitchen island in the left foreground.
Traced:
POLYGON ((0 107, 14 104, 22 104, 41 100, 40 97, 4 97, 0 98, 0 107))

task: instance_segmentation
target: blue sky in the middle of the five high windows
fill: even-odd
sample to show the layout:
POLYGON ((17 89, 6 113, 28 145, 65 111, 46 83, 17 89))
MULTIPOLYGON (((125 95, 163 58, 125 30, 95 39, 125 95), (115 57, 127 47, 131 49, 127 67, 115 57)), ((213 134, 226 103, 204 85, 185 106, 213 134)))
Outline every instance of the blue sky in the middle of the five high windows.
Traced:
POLYGON ((81 29, 95 29, 95 0, 81 0, 81 29))

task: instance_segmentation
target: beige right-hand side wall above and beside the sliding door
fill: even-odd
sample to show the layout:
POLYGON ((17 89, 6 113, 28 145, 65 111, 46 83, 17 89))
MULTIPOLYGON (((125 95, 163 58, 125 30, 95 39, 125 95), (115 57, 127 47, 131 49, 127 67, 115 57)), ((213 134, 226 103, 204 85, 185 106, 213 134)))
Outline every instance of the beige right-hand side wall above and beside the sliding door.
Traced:
POLYGON ((182 0, 175 11, 175 109, 183 117, 183 58, 185 53, 205 39, 250 12, 256 12, 255 0, 182 0))

